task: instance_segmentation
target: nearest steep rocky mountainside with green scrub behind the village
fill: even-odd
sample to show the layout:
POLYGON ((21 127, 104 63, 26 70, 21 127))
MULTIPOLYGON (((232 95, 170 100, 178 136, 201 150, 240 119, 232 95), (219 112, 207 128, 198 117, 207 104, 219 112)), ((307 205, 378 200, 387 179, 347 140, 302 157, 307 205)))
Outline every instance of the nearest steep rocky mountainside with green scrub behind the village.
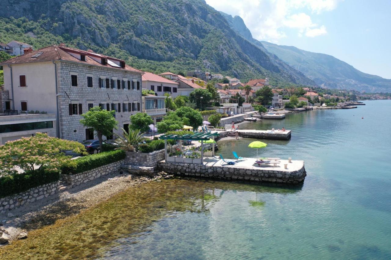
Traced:
POLYGON ((250 43, 203 0, 4 0, 0 42, 66 43, 146 71, 187 71, 273 84, 315 83, 250 43))

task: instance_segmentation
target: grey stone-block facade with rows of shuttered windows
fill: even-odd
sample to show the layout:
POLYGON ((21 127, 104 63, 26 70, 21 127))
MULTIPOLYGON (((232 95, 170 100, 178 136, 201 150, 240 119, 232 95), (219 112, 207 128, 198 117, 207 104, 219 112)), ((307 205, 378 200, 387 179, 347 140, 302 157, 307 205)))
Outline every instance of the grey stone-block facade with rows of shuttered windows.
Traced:
MULTIPOLYGON (((118 130, 114 130, 115 134, 121 135, 121 128, 124 124, 130 123, 130 116, 137 112, 142 112, 142 100, 141 100, 141 73, 127 71, 124 69, 113 69, 96 66, 86 66, 84 64, 70 63, 70 62, 58 62, 57 65, 57 84, 59 93, 59 110, 60 110, 60 129, 61 138, 84 141, 86 140, 86 127, 84 127, 79 120, 82 119, 79 114, 79 104, 82 105, 82 112, 88 111, 88 104, 92 103, 94 107, 102 104, 115 104, 118 106, 120 103, 121 112, 117 112, 115 115, 118 121, 118 130), (77 87, 71 86, 71 75, 77 75, 77 87), (87 77, 92 77, 93 87, 87 87, 87 77), (99 87, 99 78, 110 80, 110 88, 99 87), (121 87, 111 88, 111 79, 120 80, 121 87), (135 89, 122 88, 122 81, 135 82, 135 89), (137 90, 136 82, 140 82, 140 87, 137 90), (135 103, 135 111, 124 111, 123 103, 135 103), (139 105, 137 105, 137 103, 139 105), (77 114, 70 115, 69 104, 77 105, 77 114), (138 110, 138 107, 140 108, 138 110)), ((97 136, 95 135, 95 138, 97 136)))

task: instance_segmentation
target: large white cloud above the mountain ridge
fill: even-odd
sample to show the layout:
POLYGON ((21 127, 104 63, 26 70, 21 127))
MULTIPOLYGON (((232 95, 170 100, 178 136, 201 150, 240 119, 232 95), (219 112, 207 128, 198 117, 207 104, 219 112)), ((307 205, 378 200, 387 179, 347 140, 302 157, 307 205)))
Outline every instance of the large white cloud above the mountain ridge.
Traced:
POLYGON ((324 25, 312 16, 331 11, 341 0, 206 0, 218 11, 239 15, 258 40, 277 42, 289 32, 299 37, 315 37, 327 33, 324 25))

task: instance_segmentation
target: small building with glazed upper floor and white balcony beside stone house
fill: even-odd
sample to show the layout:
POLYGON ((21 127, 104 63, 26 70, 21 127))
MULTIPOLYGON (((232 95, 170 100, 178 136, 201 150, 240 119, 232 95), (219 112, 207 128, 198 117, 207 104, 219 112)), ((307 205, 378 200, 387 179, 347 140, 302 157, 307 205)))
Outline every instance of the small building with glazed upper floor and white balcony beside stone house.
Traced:
POLYGON ((163 116, 166 115, 164 96, 154 96, 151 94, 142 96, 142 104, 142 112, 150 115, 155 124, 160 122, 163 116))

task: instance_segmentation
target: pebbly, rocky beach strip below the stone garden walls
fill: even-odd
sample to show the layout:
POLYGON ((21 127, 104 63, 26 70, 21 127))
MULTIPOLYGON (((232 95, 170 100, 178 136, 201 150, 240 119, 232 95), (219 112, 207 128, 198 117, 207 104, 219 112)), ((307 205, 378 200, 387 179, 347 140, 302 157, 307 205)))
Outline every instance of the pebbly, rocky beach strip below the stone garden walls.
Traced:
POLYGON ((31 230, 79 214, 130 187, 151 181, 161 182, 172 177, 174 175, 164 172, 149 177, 118 171, 48 196, 26 207, 16 208, 7 215, 0 215, 0 247, 12 243, 15 239, 25 239, 31 230))

